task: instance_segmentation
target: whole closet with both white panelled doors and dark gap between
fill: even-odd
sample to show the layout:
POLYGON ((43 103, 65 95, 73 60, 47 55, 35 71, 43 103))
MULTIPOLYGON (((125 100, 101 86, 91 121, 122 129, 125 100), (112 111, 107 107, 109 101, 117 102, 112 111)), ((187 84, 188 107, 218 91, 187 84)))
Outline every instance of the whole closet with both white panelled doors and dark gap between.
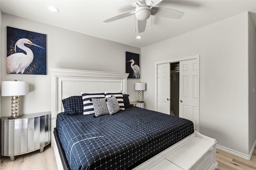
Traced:
POLYGON ((199 131, 199 56, 156 63, 155 110, 189 119, 199 131))

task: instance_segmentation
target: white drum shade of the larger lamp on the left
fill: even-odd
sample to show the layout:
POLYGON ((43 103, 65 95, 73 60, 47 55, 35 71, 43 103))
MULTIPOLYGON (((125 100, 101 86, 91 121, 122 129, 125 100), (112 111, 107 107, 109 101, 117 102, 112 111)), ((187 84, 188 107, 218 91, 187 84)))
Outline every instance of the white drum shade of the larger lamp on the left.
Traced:
POLYGON ((28 82, 2 81, 2 96, 23 96, 28 94, 28 82))

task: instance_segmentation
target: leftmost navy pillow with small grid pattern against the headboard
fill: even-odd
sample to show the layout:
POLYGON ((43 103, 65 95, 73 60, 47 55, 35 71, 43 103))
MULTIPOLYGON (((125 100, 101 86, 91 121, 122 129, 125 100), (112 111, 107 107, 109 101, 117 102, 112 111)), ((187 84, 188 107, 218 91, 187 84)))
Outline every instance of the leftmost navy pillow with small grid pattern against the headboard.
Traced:
POLYGON ((80 115, 84 113, 82 96, 71 96, 63 99, 64 113, 68 115, 80 115))

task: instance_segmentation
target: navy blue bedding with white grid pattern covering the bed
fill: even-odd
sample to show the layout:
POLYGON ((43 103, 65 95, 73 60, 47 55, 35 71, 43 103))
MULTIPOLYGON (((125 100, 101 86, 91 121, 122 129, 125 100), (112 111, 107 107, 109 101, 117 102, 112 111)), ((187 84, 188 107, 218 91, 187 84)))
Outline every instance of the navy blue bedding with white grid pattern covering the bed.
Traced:
POLYGON ((130 169, 194 132, 192 121, 140 107, 114 115, 57 115, 72 170, 130 169))

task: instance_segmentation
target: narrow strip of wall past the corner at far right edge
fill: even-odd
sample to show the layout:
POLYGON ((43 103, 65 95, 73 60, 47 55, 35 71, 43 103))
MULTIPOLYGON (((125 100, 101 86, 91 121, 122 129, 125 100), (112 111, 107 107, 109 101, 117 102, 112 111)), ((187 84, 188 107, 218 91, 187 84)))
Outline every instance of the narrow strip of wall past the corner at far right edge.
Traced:
POLYGON ((249 59, 249 151, 254 148, 256 140, 256 29, 250 15, 248 16, 248 59, 249 59))

